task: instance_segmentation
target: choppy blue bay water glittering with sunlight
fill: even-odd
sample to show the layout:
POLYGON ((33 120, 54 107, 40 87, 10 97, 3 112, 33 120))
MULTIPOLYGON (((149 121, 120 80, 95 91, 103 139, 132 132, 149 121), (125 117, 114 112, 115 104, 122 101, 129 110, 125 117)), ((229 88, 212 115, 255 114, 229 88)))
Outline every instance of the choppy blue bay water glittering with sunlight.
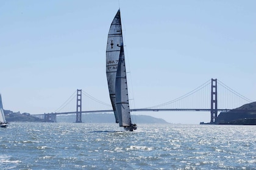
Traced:
POLYGON ((256 126, 11 123, 0 169, 256 169, 256 126))

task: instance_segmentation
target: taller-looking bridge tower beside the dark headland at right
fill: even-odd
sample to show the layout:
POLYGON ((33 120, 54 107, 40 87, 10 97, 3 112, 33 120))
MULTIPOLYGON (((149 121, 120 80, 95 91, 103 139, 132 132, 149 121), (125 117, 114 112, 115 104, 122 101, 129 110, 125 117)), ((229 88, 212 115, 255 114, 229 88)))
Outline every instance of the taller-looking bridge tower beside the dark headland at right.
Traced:
POLYGON ((218 114, 217 106, 217 79, 212 78, 212 90, 211 90, 211 122, 215 123, 218 114))

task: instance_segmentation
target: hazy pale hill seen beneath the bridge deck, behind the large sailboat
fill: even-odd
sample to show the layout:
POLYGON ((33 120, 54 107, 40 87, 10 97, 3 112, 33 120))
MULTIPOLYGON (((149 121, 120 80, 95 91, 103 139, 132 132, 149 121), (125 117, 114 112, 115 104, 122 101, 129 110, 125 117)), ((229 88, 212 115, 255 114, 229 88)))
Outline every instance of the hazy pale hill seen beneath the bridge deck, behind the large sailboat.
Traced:
MULTIPOLYGON (((168 123, 162 118, 155 118, 148 115, 132 115, 134 123, 168 123)), ((57 122, 72 123, 76 121, 76 115, 58 115, 57 122)), ((115 123, 113 114, 83 114, 82 122, 84 123, 115 123)))

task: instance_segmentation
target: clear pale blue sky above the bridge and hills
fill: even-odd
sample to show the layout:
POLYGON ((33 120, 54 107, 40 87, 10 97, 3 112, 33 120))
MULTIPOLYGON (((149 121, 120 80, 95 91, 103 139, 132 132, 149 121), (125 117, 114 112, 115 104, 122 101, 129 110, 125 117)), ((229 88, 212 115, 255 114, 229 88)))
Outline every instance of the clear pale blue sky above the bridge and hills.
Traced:
MULTIPOLYGON (((105 48, 119 7, 135 107, 173 100, 210 78, 256 101, 256 1, 2 0, 4 109, 53 112, 76 89, 110 103, 105 48)), ((201 112, 149 115, 210 121, 201 112)))

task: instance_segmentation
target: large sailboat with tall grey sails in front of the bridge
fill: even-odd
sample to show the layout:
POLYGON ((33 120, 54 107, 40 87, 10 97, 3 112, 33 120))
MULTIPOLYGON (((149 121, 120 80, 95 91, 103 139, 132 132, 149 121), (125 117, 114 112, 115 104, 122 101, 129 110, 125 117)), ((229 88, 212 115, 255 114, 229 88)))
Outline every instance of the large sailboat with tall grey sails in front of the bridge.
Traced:
POLYGON ((120 10, 108 32, 106 61, 108 91, 116 123, 126 131, 136 130, 137 125, 132 124, 130 117, 120 10))

